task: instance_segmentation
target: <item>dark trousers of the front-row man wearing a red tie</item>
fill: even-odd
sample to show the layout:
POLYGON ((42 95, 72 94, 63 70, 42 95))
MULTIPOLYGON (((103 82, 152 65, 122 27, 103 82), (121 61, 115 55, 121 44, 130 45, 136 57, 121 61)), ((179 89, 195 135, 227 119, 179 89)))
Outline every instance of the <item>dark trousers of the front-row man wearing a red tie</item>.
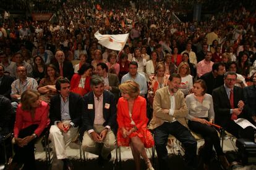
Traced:
POLYGON ((229 133, 233 134, 237 139, 244 138, 254 141, 254 127, 248 126, 243 129, 241 126, 236 124, 233 120, 229 120, 223 125, 224 129, 229 133))

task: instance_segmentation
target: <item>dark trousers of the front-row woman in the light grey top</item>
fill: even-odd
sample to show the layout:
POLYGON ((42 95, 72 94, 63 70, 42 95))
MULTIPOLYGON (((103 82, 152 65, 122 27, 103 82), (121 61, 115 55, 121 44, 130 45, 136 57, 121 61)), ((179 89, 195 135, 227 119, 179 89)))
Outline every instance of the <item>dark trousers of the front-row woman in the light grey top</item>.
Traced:
POLYGON ((214 127, 208 126, 207 124, 202 124, 198 121, 189 121, 189 129, 197 134, 202 135, 205 140, 205 145, 203 148, 203 160, 208 163, 213 155, 213 146, 215 148, 216 154, 224 155, 218 132, 214 127))

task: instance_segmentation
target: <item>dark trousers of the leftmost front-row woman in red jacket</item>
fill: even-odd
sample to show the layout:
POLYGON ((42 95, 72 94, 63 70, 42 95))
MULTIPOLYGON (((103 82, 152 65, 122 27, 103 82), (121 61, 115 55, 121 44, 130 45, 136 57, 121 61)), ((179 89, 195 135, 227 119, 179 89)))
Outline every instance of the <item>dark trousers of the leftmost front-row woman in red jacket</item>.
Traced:
MULTIPOLYGON (((38 127, 38 124, 32 124, 31 126, 26 127, 25 129, 22 129, 19 132, 19 138, 24 138, 27 136, 31 136, 35 129, 38 127)), ((36 169, 35 166, 35 139, 30 141, 26 146, 19 147, 18 145, 14 145, 14 163, 24 163, 23 169, 36 169)))

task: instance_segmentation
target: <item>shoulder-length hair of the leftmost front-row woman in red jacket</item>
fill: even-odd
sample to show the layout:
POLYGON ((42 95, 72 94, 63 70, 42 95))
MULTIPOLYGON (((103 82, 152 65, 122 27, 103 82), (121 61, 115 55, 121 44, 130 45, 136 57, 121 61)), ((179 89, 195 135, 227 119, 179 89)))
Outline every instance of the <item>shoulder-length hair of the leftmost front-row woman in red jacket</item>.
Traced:
POLYGON ((22 110, 30 111, 32 109, 31 104, 38 100, 40 97, 40 93, 33 90, 26 90, 22 93, 20 97, 20 103, 22 103, 22 110))

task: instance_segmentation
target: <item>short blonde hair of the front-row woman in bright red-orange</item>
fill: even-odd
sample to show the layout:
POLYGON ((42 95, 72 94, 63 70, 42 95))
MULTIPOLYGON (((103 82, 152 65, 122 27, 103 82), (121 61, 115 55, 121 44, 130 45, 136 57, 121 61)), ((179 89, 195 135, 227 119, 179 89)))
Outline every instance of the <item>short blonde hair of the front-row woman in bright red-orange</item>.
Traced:
POLYGON ((140 94, 140 85, 135 81, 128 80, 119 85, 121 93, 129 94, 132 98, 137 98, 140 94))

